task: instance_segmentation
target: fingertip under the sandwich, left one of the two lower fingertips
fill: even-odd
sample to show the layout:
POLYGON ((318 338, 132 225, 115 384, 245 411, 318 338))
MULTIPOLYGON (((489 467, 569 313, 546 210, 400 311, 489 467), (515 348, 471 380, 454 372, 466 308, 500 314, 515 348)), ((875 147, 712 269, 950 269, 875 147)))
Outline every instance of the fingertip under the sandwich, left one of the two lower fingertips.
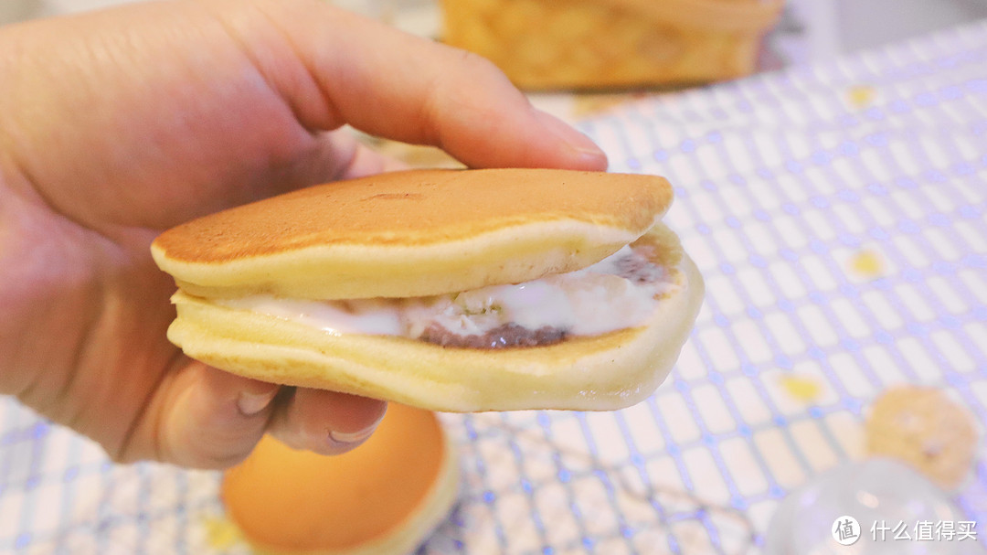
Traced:
POLYGON ((120 458, 154 457, 193 468, 226 468, 264 435, 278 386, 198 361, 169 375, 120 458), (150 446, 152 452, 145 452, 150 446))

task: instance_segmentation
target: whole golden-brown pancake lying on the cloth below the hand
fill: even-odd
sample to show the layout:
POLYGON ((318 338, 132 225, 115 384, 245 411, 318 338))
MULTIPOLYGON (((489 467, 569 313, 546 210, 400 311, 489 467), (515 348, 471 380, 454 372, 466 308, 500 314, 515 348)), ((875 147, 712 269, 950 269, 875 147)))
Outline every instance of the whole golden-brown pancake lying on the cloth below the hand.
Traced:
POLYGON ((229 517, 264 553, 404 555, 455 501, 455 451, 434 413, 391 403, 377 431, 342 455, 265 436, 223 477, 229 517))

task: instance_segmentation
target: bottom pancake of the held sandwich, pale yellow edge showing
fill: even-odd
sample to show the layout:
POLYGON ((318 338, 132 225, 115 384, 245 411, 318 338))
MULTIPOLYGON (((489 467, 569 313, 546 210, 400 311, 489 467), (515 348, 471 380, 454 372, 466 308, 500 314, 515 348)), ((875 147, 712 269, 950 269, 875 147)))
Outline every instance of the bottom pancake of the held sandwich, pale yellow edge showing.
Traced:
POLYGON ((664 380, 689 336, 703 280, 667 228, 650 242, 669 272, 644 325, 543 347, 442 347, 412 339, 345 334, 179 292, 169 339, 190 357, 270 382, 332 389, 448 412, 615 410, 664 380))

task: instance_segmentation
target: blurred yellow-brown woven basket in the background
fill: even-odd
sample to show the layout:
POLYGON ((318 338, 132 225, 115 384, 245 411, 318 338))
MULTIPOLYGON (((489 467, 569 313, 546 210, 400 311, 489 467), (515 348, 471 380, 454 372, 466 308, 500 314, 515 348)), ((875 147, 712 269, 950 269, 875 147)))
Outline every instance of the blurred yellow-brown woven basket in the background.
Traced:
POLYGON ((443 40, 526 90, 695 84, 752 73, 784 0, 443 0, 443 40))

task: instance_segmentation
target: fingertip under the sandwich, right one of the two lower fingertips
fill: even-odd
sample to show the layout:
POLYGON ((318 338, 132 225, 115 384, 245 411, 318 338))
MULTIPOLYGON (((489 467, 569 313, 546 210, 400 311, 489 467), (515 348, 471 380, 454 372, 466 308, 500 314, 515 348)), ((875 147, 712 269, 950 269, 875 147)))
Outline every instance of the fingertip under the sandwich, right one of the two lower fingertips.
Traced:
POLYGON ((298 388, 278 405, 270 432, 296 449, 341 454, 369 438, 386 411, 384 401, 298 388))

